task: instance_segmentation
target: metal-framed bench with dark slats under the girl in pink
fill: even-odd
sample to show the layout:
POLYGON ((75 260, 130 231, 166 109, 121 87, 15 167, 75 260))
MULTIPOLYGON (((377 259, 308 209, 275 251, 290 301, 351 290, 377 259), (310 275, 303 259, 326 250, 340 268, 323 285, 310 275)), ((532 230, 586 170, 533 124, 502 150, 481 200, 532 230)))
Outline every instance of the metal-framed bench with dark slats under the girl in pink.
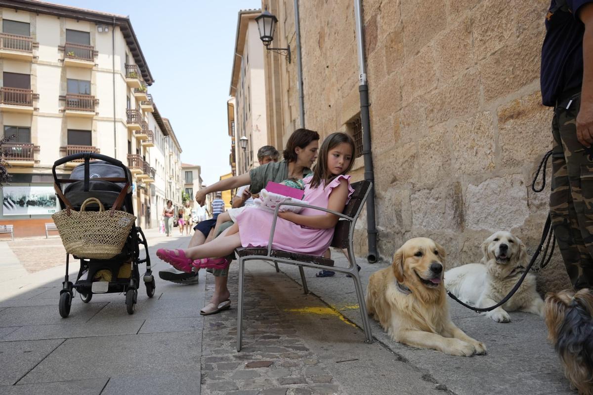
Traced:
MULTIPOLYGON (((344 211, 340 214, 336 211, 328 210, 323 207, 314 207, 311 205, 301 203, 281 203, 276 207, 274 218, 272 221, 272 230, 270 230, 270 239, 268 240, 267 248, 237 248, 235 249, 235 255, 239 262, 239 300, 237 307, 237 351, 241 351, 241 341, 243 338, 243 290, 244 290, 244 275, 245 275, 245 262, 253 260, 272 261, 281 264, 297 265, 301 274, 302 285, 305 294, 308 293, 307 280, 305 280, 305 272, 303 266, 315 269, 327 269, 328 266, 332 266, 331 270, 336 272, 342 272, 350 274, 352 280, 354 280, 354 287, 356 290, 356 297, 358 298, 358 306, 362 316, 362 326, 365 331, 366 342, 372 342, 371 324, 366 313, 365 296, 362 289, 361 278, 358 274, 358 268, 356 267, 356 259, 354 257, 354 248, 352 245, 352 239, 354 237, 354 227, 356 220, 361 213, 362 205, 368 197, 369 191, 371 190, 372 183, 369 181, 359 181, 352 184, 354 188, 353 194, 350 196, 350 201, 344 208, 344 211), (281 205, 295 205, 302 207, 315 208, 320 211, 326 211, 327 213, 336 214, 340 217, 337 222, 334 236, 331 240, 331 246, 340 249, 346 249, 347 257, 349 261, 348 267, 334 266, 334 261, 331 259, 323 258, 323 256, 307 255, 302 253, 287 252, 272 249, 272 240, 274 239, 274 232, 276 228, 276 220, 278 219, 278 208, 281 205)), ((278 265, 276 265, 278 267, 278 265)))

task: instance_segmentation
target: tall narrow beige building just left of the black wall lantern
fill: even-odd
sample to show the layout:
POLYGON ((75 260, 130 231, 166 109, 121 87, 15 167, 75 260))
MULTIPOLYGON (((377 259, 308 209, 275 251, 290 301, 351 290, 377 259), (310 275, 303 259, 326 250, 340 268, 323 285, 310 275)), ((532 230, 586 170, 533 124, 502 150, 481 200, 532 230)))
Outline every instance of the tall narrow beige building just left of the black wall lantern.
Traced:
POLYGON ((267 145, 264 55, 255 18, 260 9, 238 12, 231 86, 227 102, 232 174, 257 167, 257 150, 267 145))

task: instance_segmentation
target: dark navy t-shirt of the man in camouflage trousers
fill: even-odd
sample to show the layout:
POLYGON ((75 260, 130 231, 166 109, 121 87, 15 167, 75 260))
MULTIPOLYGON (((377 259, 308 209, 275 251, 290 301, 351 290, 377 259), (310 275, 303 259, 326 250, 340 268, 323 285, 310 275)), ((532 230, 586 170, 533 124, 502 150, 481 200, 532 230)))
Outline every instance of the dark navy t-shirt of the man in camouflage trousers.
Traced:
MULTIPOLYGON (((546 19, 546 38, 541 47, 541 98, 551 107, 565 91, 580 88, 583 81, 583 34, 579 8, 593 0, 566 0, 571 12, 554 12, 546 19)), ((551 0, 550 9, 556 6, 551 0)))

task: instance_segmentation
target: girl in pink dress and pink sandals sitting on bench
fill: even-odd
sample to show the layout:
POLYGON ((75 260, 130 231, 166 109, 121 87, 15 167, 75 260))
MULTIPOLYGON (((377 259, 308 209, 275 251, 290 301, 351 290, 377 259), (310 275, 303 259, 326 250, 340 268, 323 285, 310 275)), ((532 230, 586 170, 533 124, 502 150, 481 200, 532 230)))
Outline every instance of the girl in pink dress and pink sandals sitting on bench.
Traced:
MULTIPOLYGON (((313 175, 305 178, 305 195, 310 205, 329 208, 342 213, 354 191, 350 187, 350 176, 345 175, 352 168, 355 151, 354 141, 346 133, 332 133, 323 141, 319 160, 313 175)), ((273 249, 307 253, 321 256, 329 248, 338 217, 331 213, 304 208, 301 213, 284 211, 278 213, 273 249)), ((229 264, 224 257, 235 248, 267 246, 272 227, 273 213, 247 208, 237 217, 224 237, 188 249, 158 249, 157 256, 163 261, 187 268, 224 268, 229 264)))

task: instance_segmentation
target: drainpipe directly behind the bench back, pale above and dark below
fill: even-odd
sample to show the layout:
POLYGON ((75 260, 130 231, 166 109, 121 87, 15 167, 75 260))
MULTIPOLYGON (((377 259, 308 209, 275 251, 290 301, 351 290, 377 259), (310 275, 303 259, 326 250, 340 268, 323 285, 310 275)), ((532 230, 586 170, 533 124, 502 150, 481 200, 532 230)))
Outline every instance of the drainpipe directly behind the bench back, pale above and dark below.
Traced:
MULTIPOLYGON (((359 86, 361 94, 362 123, 362 155, 365 161, 365 180, 375 181, 371 155, 371 119, 369 117, 369 89, 366 84, 364 32, 362 30, 361 0, 354 0, 354 16, 356 20, 356 47, 358 49, 359 86)), ((371 188, 366 201, 366 229, 368 237, 368 254, 366 260, 370 264, 377 262, 377 229, 375 227, 375 187, 371 188)))

